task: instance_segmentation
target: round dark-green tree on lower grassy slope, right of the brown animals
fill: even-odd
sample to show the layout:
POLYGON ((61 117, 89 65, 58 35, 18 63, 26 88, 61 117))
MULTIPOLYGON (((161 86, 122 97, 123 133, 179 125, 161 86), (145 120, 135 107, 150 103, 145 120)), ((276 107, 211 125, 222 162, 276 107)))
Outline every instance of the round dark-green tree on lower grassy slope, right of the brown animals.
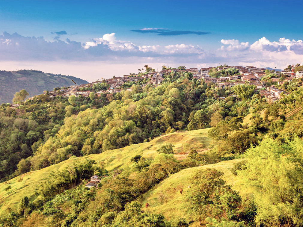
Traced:
POLYGON ((187 213, 204 218, 224 217, 234 219, 237 206, 241 203, 239 194, 225 185, 223 173, 216 169, 198 169, 190 177, 191 188, 188 189, 185 201, 187 213))

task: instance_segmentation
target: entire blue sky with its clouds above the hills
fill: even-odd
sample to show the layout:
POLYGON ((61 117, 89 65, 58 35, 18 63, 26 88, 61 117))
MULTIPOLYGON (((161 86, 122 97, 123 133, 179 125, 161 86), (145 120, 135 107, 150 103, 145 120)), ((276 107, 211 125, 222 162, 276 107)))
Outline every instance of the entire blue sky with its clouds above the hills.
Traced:
POLYGON ((107 65, 129 71, 139 62, 155 67, 183 62, 188 67, 219 62, 285 67, 303 60, 300 9, 303 1, 1 1, 0 34, 7 33, 0 36, 0 67, 9 61, 9 67, 48 69, 43 66, 48 62, 56 72, 75 74, 75 62, 85 62, 93 75, 89 80, 122 73, 105 70, 107 65), (57 35, 59 31, 66 34, 57 35), (192 34, 197 32, 207 34, 192 34), (62 61, 69 66, 63 69, 62 61))

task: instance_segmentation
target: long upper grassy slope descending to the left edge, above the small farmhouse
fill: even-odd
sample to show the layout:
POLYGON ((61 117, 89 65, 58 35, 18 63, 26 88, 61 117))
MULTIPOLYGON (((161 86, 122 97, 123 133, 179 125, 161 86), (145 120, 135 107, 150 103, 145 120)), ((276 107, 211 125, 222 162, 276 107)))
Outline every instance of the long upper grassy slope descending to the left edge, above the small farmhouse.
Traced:
POLYGON ((103 162, 105 168, 114 170, 124 168, 131 163, 131 158, 136 155, 141 155, 147 159, 153 159, 157 152, 156 150, 165 143, 172 143, 175 153, 182 152, 182 144, 190 143, 192 148, 206 148, 210 139, 207 137, 208 129, 193 130, 187 132, 170 133, 158 138, 155 138, 147 143, 133 144, 124 148, 107 150, 100 154, 92 154, 84 157, 71 158, 56 165, 46 167, 37 171, 25 173, 15 177, 5 183, 0 184, 0 215, 7 214, 9 209, 15 210, 23 196, 28 196, 30 201, 37 198, 35 192, 37 185, 43 181, 43 178, 51 171, 57 171, 65 168, 73 161, 83 161, 85 159, 93 159, 97 162, 103 162), (4 189, 11 186, 11 189, 4 189))

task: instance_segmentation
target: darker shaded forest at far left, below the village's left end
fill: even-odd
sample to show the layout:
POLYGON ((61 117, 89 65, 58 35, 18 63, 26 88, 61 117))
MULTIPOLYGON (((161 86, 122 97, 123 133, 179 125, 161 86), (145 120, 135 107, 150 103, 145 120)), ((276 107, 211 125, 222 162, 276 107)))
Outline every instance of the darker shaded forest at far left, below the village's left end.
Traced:
POLYGON ((21 106, 18 108, 2 104, 0 106, 0 181, 30 171, 30 162, 26 158, 32 156, 39 146, 58 133, 65 117, 89 107, 98 108, 108 103, 105 96, 94 100, 74 97, 71 104, 68 98, 50 98, 49 95, 44 94, 20 103, 21 106))

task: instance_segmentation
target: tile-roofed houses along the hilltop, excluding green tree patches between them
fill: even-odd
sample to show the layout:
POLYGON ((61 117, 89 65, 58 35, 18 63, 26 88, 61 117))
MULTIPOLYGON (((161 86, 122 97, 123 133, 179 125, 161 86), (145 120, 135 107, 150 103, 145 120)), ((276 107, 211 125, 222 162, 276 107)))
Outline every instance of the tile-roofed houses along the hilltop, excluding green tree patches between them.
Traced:
MULTIPOLYGON (((94 84, 98 84, 98 83, 105 83, 108 86, 106 90, 101 90, 99 92, 96 92, 96 95, 98 96, 101 96, 102 93, 104 94, 118 93, 122 91, 122 88, 131 91, 130 87, 123 86, 127 82, 140 81, 140 86, 142 86, 142 88, 145 88, 147 84, 158 86, 163 81, 163 75, 168 75, 171 72, 176 72, 176 73, 190 72, 192 73, 193 78, 196 78, 198 80, 203 79, 206 83, 215 84, 215 89, 233 87, 239 84, 255 85, 256 86, 255 90, 256 91, 260 90, 260 94, 265 96, 270 102, 278 100, 281 94, 280 92, 281 90, 279 90, 278 92, 277 88, 269 87, 267 88, 269 90, 264 90, 266 87, 265 84, 261 81, 261 78, 266 76, 264 68, 257 68, 255 66, 246 66, 246 67, 222 66, 222 67, 206 67, 200 69, 198 68, 164 69, 160 72, 150 72, 148 74, 127 74, 121 77, 114 76, 113 78, 103 79, 102 81, 95 81, 93 83, 81 84, 78 86, 73 85, 60 90, 50 91, 49 95, 50 97, 56 97, 58 95, 63 97, 68 97, 71 95, 74 95, 76 97, 78 96, 88 97, 91 92, 91 88, 94 86, 94 84), (210 72, 213 71, 214 69, 217 71, 221 71, 221 70, 228 70, 229 68, 238 69, 239 73, 228 77, 210 77, 209 75, 210 72)), ((278 84, 283 84, 287 81, 291 81, 294 78, 292 72, 275 71, 273 73, 277 74, 277 77, 279 77, 280 74, 284 74, 288 76, 285 78, 284 81, 280 81, 280 78, 271 78, 271 81, 274 82, 277 81, 278 84)), ((295 77, 296 78, 303 77, 303 71, 297 71, 295 77)))

